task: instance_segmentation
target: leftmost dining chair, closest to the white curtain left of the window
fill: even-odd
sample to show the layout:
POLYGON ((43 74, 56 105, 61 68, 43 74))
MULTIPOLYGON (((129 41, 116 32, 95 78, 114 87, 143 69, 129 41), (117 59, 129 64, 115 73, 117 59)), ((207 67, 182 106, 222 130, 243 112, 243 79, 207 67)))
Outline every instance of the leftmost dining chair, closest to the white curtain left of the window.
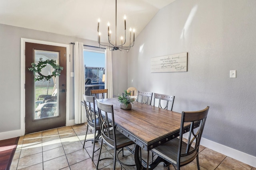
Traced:
MULTIPOLYGON (((86 129, 86 134, 85 134, 85 138, 84 138, 84 145, 86 141, 92 141, 93 142, 93 150, 92 150, 92 161, 93 161, 93 156, 94 153, 97 151, 95 149, 95 140, 97 140, 101 133, 100 133, 100 121, 99 118, 96 117, 96 112, 95 112, 95 98, 94 96, 84 96, 84 106, 85 106, 85 110, 86 110, 86 117, 87 117, 87 129, 86 129), (90 127, 90 131, 92 131, 92 129, 94 129, 94 138, 90 139, 90 140, 86 140, 86 136, 88 133, 88 127, 90 127), (97 135, 96 132, 98 131, 97 135)), ((84 148, 84 146, 83 146, 84 148)))

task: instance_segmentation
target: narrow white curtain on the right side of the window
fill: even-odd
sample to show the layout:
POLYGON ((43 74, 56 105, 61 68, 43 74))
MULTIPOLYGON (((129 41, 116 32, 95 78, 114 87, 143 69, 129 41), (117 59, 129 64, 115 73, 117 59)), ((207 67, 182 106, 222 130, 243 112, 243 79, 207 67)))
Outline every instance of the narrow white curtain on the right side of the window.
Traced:
MULTIPOLYGON (((108 89, 108 98, 113 98, 112 83, 112 51, 105 50, 105 88, 108 89)), ((105 94, 106 95, 106 94, 105 94)), ((106 97, 105 97, 106 98, 106 97)))

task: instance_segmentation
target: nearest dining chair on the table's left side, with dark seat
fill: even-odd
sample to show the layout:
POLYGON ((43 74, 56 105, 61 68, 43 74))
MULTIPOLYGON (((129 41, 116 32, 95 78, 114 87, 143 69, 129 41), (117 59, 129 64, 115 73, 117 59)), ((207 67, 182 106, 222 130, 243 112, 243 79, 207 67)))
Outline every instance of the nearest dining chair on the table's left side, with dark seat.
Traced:
MULTIPOLYGON (((114 149, 114 158, 102 158, 100 159, 100 154, 98 157, 98 163, 96 169, 98 170, 99 162, 104 159, 114 159, 113 170, 116 168, 116 161, 125 166, 135 166, 124 164, 118 159, 118 154, 122 151, 122 156, 124 156, 124 147, 133 145, 134 142, 128 137, 123 135, 120 131, 116 130, 115 120, 114 120, 114 109, 113 105, 104 104, 97 101, 98 113, 100 118, 100 128, 101 128, 101 145, 100 154, 102 150, 102 143, 106 143, 110 148, 114 149), (119 152, 117 153, 117 151, 119 152)), ((130 150, 130 149, 128 149, 130 150)))

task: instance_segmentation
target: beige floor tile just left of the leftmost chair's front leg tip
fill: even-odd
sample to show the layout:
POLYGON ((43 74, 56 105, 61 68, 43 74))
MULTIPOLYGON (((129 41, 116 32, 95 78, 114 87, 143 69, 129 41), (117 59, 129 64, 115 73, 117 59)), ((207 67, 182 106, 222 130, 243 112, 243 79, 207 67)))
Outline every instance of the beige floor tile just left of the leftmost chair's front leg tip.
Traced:
POLYGON ((67 158, 68 158, 68 163, 70 165, 72 165, 72 164, 81 162, 83 160, 86 160, 86 159, 90 158, 90 156, 88 155, 88 153, 86 152, 85 149, 80 149, 78 151, 67 154, 67 158))

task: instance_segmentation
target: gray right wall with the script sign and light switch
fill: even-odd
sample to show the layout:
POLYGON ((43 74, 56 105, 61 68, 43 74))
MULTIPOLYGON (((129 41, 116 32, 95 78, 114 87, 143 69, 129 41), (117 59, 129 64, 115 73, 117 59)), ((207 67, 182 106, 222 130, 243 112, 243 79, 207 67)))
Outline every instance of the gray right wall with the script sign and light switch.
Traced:
POLYGON ((128 86, 174 95, 177 112, 210 106, 203 137, 256 156, 255 7, 255 0, 176 0, 166 6, 128 53, 128 86), (152 57, 183 52, 188 72, 150 73, 152 57), (229 78, 230 70, 237 78, 229 78))

